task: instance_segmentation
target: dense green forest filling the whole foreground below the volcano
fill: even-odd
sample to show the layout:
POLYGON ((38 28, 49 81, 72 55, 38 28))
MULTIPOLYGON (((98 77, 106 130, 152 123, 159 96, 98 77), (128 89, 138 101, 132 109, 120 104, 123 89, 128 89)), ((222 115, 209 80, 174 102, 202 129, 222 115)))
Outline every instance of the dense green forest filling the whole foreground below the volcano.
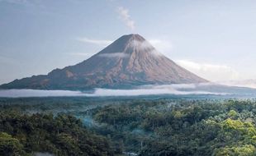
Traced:
POLYGON ((0 108, 0 155, 256 155, 254 99, 0 99, 0 108))

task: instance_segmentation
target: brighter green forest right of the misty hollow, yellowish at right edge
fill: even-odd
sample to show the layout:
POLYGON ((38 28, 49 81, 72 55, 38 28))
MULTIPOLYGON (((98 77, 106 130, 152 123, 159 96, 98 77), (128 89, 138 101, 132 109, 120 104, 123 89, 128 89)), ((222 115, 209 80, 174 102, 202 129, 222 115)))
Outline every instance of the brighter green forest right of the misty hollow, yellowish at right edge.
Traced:
POLYGON ((256 103, 185 100, 95 110, 102 134, 140 155, 256 155, 256 103))

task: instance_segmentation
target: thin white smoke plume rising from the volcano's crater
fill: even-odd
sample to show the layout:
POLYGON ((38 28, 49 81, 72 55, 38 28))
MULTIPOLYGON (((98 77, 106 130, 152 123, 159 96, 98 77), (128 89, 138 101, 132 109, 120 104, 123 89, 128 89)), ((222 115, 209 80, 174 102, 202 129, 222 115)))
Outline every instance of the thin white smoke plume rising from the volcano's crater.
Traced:
POLYGON ((130 30, 135 30, 135 21, 130 18, 129 10, 124 7, 117 7, 117 12, 126 26, 128 26, 130 30))

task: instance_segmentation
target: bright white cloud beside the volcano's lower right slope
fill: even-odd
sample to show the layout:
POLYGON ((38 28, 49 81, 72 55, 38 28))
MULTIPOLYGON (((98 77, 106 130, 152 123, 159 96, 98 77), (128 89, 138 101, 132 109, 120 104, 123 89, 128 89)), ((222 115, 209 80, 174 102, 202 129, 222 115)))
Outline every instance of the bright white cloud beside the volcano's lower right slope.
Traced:
POLYGON ((240 79, 239 72, 226 65, 199 63, 187 60, 176 60, 175 62, 177 62, 178 65, 186 68, 188 71, 192 71, 206 80, 223 81, 240 79))

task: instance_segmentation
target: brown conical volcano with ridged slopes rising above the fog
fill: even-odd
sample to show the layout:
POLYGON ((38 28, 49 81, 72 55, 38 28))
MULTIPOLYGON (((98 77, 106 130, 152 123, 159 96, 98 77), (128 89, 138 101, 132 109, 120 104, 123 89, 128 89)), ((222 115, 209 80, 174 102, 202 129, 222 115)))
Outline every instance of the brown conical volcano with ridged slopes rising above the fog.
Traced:
POLYGON ((123 35, 83 62, 1 85, 1 89, 130 88, 137 85, 201 83, 202 79, 149 44, 139 34, 123 35))

